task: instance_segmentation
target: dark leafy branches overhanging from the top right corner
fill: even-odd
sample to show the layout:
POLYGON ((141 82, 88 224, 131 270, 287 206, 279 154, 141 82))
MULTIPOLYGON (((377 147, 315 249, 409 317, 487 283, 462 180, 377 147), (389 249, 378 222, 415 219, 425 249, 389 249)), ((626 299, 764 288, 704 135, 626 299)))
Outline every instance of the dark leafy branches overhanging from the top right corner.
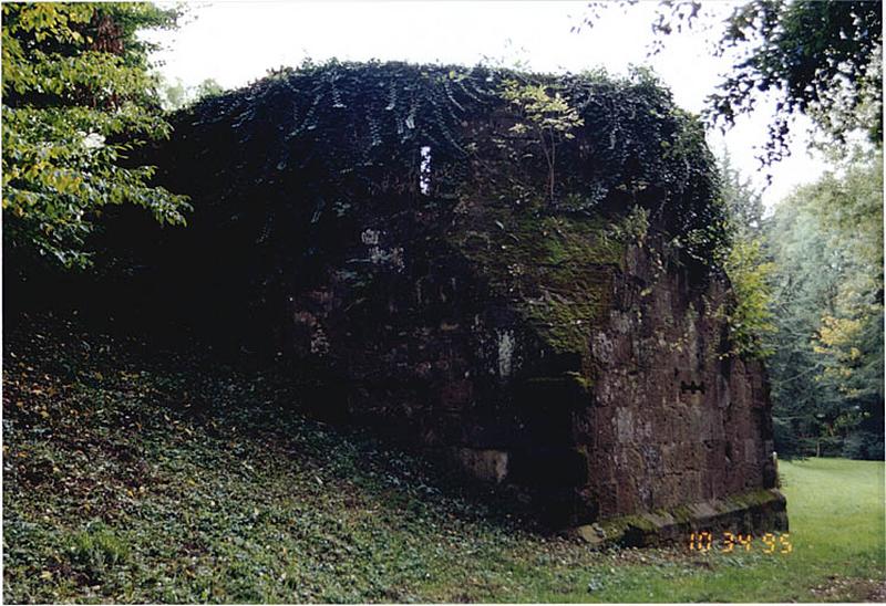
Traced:
MULTIPOLYGON (((622 8, 637 0, 620 0, 622 8)), ((584 23, 593 25, 607 2, 591 2, 584 23)), ((658 38, 691 29, 704 6, 698 0, 659 2, 652 31, 658 38)), ((709 97, 707 117, 723 128, 774 95, 776 115, 761 161, 787 153, 791 117, 804 114, 831 142, 843 145, 855 130, 883 145, 883 3, 879 0, 749 0, 723 23, 717 54, 732 69, 709 97)), ((574 28, 574 29, 580 29, 574 28)))

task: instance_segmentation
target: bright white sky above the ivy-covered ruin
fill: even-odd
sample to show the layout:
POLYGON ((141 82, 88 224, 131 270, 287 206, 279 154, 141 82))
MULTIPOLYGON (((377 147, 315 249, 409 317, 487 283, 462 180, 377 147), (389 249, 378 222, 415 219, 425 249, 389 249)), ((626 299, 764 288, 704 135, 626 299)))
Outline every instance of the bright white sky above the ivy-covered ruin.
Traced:
MULTIPOLYGON (((605 66, 624 73, 649 64, 673 91, 678 105, 699 112, 704 97, 730 62, 713 56, 711 41, 731 2, 709 2, 704 21, 690 32, 666 39, 664 50, 647 59, 653 39, 656 3, 640 2, 604 11, 593 29, 570 33, 586 13, 584 1, 224 1, 189 4, 188 17, 173 32, 151 39, 165 50, 155 55, 171 81, 194 86, 215 79, 243 86, 271 67, 297 66, 305 58, 364 61, 404 60, 474 65, 490 58, 542 72, 580 72, 605 66), (707 25, 707 27, 705 27, 707 25), (705 33, 705 30, 709 30, 705 33)), ((709 133, 719 154, 723 145, 759 187, 755 147, 765 142, 770 108, 761 105, 725 138, 709 133)), ((806 122, 794 130, 792 156, 773 168, 763 199, 771 207, 791 189, 817 178, 825 163, 806 153, 806 122)))

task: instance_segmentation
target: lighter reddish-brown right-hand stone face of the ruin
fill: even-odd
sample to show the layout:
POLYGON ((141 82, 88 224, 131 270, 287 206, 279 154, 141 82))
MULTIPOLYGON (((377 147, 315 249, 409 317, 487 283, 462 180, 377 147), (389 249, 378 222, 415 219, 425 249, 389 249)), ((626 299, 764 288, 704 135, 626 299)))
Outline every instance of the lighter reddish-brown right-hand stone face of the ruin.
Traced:
POLYGON ((656 248, 631 248, 590 337, 591 405, 576 415, 600 515, 775 488, 765 372, 725 356, 722 282, 693 292, 656 248))

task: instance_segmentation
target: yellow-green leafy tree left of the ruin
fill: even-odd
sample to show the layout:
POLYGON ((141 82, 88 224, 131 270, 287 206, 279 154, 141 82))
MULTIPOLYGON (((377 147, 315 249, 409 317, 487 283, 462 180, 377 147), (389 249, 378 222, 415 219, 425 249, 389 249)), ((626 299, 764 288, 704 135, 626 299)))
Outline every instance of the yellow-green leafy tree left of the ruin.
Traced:
POLYGON ((165 137, 136 32, 174 27, 150 3, 2 6, 3 244, 85 267, 85 239, 105 205, 134 203, 161 223, 185 222, 183 196, 152 187, 128 153, 165 137))

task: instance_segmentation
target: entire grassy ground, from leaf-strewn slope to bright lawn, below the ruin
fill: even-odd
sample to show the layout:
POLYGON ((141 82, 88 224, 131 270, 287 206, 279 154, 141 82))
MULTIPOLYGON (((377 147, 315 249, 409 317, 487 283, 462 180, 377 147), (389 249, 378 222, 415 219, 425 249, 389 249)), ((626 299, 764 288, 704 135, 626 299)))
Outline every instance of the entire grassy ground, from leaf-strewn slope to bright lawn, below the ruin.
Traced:
POLYGON ((9 603, 886 597, 882 462, 782 462, 790 554, 593 552, 267 374, 45 318, 3 362, 9 603))

